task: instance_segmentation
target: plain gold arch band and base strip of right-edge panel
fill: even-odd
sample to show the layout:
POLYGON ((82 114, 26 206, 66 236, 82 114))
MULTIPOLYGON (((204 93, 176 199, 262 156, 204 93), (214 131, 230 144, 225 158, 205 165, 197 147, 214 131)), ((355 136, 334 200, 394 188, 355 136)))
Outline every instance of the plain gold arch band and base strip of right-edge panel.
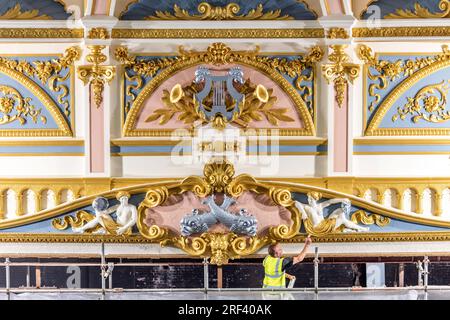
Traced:
MULTIPOLYGON (((404 94, 409 88, 415 85, 425 76, 433 74, 450 66, 450 59, 444 61, 436 61, 433 64, 426 66, 416 71, 411 76, 403 80, 397 85, 378 106, 372 121, 367 126, 366 136, 387 136, 387 135, 450 135, 450 128, 379 128, 381 121, 386 113, 394 105, 399 97, 404 94)), ((364 106, 366 108, 367 106, 364 106)))

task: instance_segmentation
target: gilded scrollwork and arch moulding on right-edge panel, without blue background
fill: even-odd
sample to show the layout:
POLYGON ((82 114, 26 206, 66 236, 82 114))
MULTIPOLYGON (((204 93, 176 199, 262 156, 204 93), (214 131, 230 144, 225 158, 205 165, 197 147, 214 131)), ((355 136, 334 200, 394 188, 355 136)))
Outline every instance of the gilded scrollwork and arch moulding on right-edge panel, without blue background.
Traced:
MULTIPOLYGON (((379 128, 379 124, 384 118, 385 114, 390 110, 398 98, 401 97, 403 93, 416 84, 419 80, 424 77, 450 66, 450 51, 446 45, 442 46, 442 53, 430 57, 420 57, 415 59, 407 60, 397 60, 391 62, 388 60, 379 60, 376 55, 372 53, 372 49, 366 45, 358 46, 358 56, 361 60, 366 63, 365 77, 367 76, 370 80, 376 81, 369 85, 368 93, 369 96, 375 97, 375 100, 368 106, 369 111, 375 111, 371 122, 368 124, 365 131, 366 135, 448 135, 450 134, 450 129, 448 128, 379 128), (378 74, 373 74, 368 67, 374 68, 378 74), (387 96, 381 101, 381 96, 379 92, 381 90, 386 90, 388 85, 393 80, 403 77, 404 80, 401 81, 392 91, 390 91, 387 96), (378 106, 377 103, 381 102, 378 106)), ((428 88, 430 89, 430 88, 428 88)), ((365 89, 364 89, 365 90, 365 89)), ((424 92, 421 92, 420 96, 423 96, 424 92)), ((419 97, 418 97, 419 98, 419 97)), ((414 100, 414 98, 411 98, 414 100)), ((403 120, 406 115, 415 114, 416 118, 413 118, 413 123, 417 123, 418 120, 423 119, 429 122, 440 122, 444 120, 446 115, 442 108, 435 107, 435 99, 427 99, 427 107, 424 109, 419 108, 421 104, 412 103, 412 108, 405 105, 404 108, 398 109, 397 116, 403 120), (432 103, 433 102, 433 103, 432 103), (419 109, 418 109, 419 108, 419 109), (422 111, 420 110, 422 109, 422 111), (429 109, 430 111, 428 111, 429 109), (423 110, 428 113, 423 113, 423 110), (433 115, 434 114, 434 115, 433 115), (403 118, 403 119, 402 119, 403 118)), ((418 102, 419 100, 417 100, 418 102)), ((366 104, 366 103, 365 103, 366 104)), ((438 104, 439 105, 439 104, 438 104)), ((392 120, 396 121, 398 117, 393 117, 392 120)))

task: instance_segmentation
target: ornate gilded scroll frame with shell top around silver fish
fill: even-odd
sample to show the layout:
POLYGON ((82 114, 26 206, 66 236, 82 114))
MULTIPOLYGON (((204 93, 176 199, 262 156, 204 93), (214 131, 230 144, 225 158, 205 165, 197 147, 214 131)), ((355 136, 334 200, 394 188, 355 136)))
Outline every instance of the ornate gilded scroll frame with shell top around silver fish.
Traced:
POLYGON ((177 247, 191 256, 211 258, 212 264, 222 265, 229 259, 247 256, 265 245, 295 237, 300 230, 301 219, 288 189, 273 187, 258 182, 247 174, 234 176, 234 167, 217 159, 208 163, 203 171, 204 177, 190 176, 181 183, 154 187, 148 190, 138 208, 137 226, 147 239, 159 242, 162 246, 177 247), (256 236, 242 236, 233 232, 205 232, 199 236, 185 237, 174 234, 168 228, 145 223, 146 210, 163 205, 171 195, 193 192, 198 197, 206 197, 223 192, 231 197, 239 197, 245 191, 266 194, 274 205, 285 207, 291 213, 292 223, 269 228, 269 231, 256 236))

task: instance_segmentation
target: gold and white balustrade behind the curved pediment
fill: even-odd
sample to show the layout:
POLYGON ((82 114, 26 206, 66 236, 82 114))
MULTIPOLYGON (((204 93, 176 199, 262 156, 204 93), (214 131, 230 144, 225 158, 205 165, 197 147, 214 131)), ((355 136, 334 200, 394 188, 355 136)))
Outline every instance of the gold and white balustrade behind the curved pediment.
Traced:
MULTIPOLYGON (((365 198, 386 207, 450 219, 450 178, 270 178, 314 185, 365 198)), ((51 209, 77 198, 173 179, 0 179, 0 220, 51 209)))

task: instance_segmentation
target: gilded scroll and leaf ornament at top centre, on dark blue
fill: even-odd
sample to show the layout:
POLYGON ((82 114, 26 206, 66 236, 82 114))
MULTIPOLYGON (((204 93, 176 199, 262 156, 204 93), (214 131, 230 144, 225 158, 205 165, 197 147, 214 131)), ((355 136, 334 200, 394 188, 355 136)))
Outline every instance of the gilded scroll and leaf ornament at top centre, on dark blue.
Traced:
POLYGON ((199 14, 190 14, 179 5, 173 6, 173 13, 170 11, 155 11, 153 16, 147 16, 146 20, 292 20, 289 15, 281 15, 281 10, 271 10, 264 12, 260 3, 256 9, 251 9, 246 14, 238 15, 241 7, 237 3, 228 3, 224 7, 212 6, 207 2, 198 5, 199 14))

